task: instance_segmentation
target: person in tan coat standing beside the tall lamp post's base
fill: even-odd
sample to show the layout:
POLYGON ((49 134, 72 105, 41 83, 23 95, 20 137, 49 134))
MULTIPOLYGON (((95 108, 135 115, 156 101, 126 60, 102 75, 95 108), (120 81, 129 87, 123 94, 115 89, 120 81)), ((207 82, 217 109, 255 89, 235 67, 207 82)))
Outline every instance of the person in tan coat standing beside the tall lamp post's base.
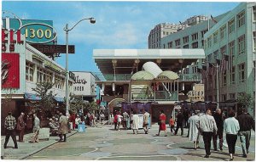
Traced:
POLYGON ((60 113, 60 119, 59 119, 59 123, 60 123, 60 127, 58 129, 58 134, 60 137, 59 142, 62 142, 62 137, 64 137, 63 142, 66 142, 66 134, 67 134, 67 124, 68 124, 68 120, 67 120, 67 116, 62 115, 62 113, 60 113))

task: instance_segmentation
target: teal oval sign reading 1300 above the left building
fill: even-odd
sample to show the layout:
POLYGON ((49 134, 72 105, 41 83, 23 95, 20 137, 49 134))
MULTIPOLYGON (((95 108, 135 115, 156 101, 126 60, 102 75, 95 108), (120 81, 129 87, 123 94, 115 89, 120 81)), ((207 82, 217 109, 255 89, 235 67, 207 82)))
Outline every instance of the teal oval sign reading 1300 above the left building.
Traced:
POLYGON ((26 42, 47 43, 56 38, 56 31, 51 25, 43 23, 29 23, 20 26, 20 30, 25 34, 26 42))

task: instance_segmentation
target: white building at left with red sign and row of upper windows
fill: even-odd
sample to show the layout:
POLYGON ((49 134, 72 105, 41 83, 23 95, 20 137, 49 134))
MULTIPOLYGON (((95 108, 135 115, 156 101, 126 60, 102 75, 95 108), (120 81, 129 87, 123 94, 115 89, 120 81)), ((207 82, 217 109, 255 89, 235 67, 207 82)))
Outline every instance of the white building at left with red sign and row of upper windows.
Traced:
MULTIPOLYGON (((55 107, 64 105, 64 97, 66 94, 66 70, 55 60, 50 59, 45 53, 41 53, 32 43, 27 42, 26 34, 23 31, 14 29, 9 19, 5 20, 2 26, 2 104, 1 104, 1 121, 8 115, 8 112, 13 112, 15 117, 20 115, 20 112, 25 112, 26 115, 31 111, 32 103, 40 100, 37 92, 32 88, 37 87, 37 83, 41 81, 50 81, 55 83, 50 91, 55 94, 55 107)), ((19 20, 16 20, 19 21, 19 20)), ((33 26, 26 25, 27 28, 33 26)), ((40 28, 43 33, 44 28, 40 28)), ((48 29, 45 29, 49 33, 48 29), (48 31, 47 31, 48 30, 48 31)), ((40 32, 39 32, 40 33, 40 32)), ((38 35, 39 36, 39 35, 38 35)), ((41 35, 40 35, 41 36, 41 35)), ((47 35, 48 38, 50 36, 47 35)), ((52 39, 52 37, 50 38, 52 39)), ((42 39, 43 40, 43 39, 42 39)), ((70 77, 68 85, 69 92, 73 92, 73 78, 70 77)), ((27 119, 32 120, 32 119, 27 119)), ((42 115, 42 126, 45 116, 42 115)), ((46 120, 45 120, 46 121, 46 120)), ((32 122, 29 122, 28 129, 32 128, 32 122)))

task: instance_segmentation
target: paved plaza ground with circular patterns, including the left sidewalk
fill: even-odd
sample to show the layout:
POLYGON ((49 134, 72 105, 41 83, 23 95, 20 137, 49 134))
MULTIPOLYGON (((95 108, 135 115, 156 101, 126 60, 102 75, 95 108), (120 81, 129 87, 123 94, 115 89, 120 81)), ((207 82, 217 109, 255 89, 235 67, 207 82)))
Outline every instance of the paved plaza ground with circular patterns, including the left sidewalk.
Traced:
MULTIPOLYGON (((134 135, 131 130, 114 131, 113 126, 88 127, 85 132, 73 131, 67 142, 57 142, 58 137, 38 143, 18 143, 19 149, 2 149, 4 159, 87 159, 87 160, 196 160, 223 161, 229 159, 228 148, 224 141, 224 151, 213 151, 209 159, 205 155, 203 142, 199 149, 193 148, 188 137, 181 137, 180 131, 174 136, 168 128, 167 137, 161 132, 155 137, 158 125, 153 125, 148 134, 139 130, 134 135)), ((187 135, 187 129, 184 135, 187 135)), ((28 135, 26 135, 28 139, 28 135)), ((240 141, 236 142, 236 161, 255 159, 254 132, 250 153, 247 159, 241 157, 240 141)), ((11 140, 10 140, 11 141, 11 140)), ((12 143, 9 142, 9 146, 12 143)), ((2 137, 3 148, 3 137, 2 137)))

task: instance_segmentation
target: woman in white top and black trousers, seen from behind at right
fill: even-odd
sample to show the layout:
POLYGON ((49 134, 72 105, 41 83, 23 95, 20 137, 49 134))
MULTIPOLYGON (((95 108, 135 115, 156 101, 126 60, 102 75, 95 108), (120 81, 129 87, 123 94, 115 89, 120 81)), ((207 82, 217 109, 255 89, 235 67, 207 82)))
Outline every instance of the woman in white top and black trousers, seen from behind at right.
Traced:
POLYGON ((237 134, 240 130, 239 122, 235 118, 235 111, 230 109, 229 118, 224 120, 224 131, 226 132, 226 141, 228 143, 230 161, 234 159, 233 154, 235 154, 237 134))

